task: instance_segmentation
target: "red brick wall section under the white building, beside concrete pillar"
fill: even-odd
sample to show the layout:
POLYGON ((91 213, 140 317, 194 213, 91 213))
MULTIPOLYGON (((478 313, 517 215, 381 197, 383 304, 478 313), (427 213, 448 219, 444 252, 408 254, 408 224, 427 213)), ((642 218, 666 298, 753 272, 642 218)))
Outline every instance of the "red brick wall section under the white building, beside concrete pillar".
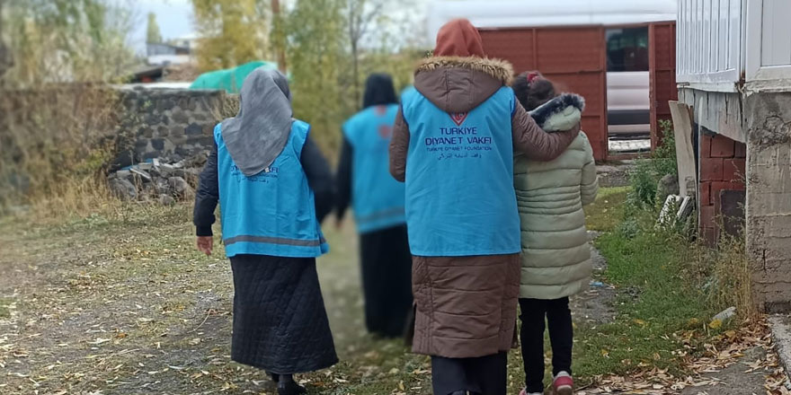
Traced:
POLYGON ((700 136, 700 234, 709 245, 719 237, 720 191, 744 190, 747 146, 728 137, 700 136))

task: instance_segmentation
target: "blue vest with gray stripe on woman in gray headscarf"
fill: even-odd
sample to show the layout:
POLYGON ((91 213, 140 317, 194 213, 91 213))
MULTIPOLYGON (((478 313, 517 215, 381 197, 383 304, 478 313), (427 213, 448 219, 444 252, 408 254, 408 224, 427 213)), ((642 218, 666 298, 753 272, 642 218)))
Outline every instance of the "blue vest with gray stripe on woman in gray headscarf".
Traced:
POLYGON ((310 258, 329 250, 316 219, 313 191, 299 157, 310 126, 295 120, 289 141, 271 166, 252 177, 236 167, 214 128, 223 242, 236 254, 310 258))

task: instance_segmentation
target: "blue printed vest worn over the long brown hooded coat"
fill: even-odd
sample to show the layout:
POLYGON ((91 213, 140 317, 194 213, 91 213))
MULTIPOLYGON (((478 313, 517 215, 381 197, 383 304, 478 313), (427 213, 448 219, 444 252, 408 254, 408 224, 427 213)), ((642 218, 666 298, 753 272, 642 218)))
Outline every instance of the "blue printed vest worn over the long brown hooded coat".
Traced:
POLYGON ((402 103, 410 131, 405 207, 413 255, 519 253, 511 88, 462 114, 440 110, 418 91, 405 92, 402 103))

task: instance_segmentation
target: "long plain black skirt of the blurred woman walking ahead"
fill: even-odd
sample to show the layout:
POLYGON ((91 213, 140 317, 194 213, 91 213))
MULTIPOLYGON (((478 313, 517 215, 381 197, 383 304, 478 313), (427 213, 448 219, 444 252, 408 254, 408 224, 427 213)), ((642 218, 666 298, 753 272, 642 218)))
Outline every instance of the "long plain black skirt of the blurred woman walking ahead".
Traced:
POLYGON ((362 291, 369 332, 404 336, 412 312, 412 255, 406 226, 360 235, 362 291))

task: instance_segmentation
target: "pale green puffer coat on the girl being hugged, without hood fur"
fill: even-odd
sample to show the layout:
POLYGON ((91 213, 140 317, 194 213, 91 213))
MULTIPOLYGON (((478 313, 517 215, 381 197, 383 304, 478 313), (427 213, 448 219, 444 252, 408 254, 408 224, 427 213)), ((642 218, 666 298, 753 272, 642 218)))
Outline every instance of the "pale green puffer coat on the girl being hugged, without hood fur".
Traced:
POLYGON ((552 162, 514 159, 522 239, 520 298, 559 299, 587 289, 593 271, 582 206, 599 180, 584 133, 552 162))

